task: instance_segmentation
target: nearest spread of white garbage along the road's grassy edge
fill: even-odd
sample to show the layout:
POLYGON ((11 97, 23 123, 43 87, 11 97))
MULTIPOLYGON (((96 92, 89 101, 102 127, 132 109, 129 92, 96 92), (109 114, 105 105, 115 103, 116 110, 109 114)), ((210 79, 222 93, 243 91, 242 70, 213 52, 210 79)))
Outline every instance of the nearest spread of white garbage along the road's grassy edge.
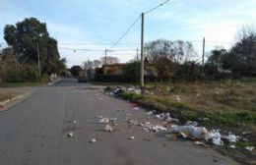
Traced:
MULTIPOLYGON (((166 123, 179 123, 178 119, 171 118, 169 113, 160 113, 156 114, 157 111, 149 111, 147 115, 155 115, 156 118, 166 122, 166 123)), ((212 143, 214 145, 226 145, 228 144, 230 148, 236 148, 235 143, 246 141, 247 138, 241 138, 239 136, 235 136, 231 133, 222 133, 221 130, 211 130, 208 131, 205 127, 198 127, 199 123, 196 121, 188 121, 183 126, 171 125, 170 132, 175 138, 183 138, 183 139, 193 139, 193 140, 201 140, 195 141, 197 145, 207 146, 206 143, 212 143), (204 143, 204 141, 206 143, 204 143)), ((144 130, 147 132, 154 131, 167 131, 166 128, 160 127, 161 129, 158 130, 150 123, 141 124, 144 127, 144 130), (164 129, 163 129, 164 128, 164 129)), ((250 134, 250 132, 243 132, 242 135, 250 134)), ((171 135, 166 135, 166 138, 173 138, 171 135)), ((254 149, 253 146, 246 146, 244 147, 246 150, 252 151, 254 149)))

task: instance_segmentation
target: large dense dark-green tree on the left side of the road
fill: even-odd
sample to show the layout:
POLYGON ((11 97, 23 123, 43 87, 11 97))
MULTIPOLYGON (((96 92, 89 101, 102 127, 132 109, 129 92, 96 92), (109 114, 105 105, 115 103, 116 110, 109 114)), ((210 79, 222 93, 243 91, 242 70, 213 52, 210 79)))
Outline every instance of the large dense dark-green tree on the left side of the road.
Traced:
POLYGON ((50 75, 59 70, 61 59, 57 40, 49 36, 45 23, 40 23, 35 18, 29 18, 15 26, 6 25, 4 38, 14 48, 19 63, 36 65, 38 45, 41 72, 50 75))

